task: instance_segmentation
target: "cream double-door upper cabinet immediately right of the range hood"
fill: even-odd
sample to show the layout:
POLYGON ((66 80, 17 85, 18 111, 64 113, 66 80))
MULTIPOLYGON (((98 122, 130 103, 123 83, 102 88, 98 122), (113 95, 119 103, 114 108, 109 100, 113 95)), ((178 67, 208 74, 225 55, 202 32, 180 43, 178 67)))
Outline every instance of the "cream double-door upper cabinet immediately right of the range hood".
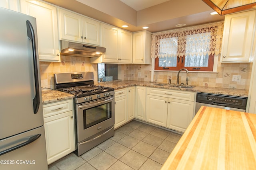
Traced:
POLYGON ((91 63, 132 63, 132 33, 101 23, 102 47, 106 53, 92 57, 91 63))

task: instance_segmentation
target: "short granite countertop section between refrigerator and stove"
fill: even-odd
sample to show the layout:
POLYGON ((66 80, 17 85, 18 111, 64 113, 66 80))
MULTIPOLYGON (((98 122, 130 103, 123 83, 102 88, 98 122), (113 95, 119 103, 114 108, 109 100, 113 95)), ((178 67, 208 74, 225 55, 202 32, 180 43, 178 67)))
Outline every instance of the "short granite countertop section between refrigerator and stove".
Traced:
POLYGON ((68 94, 64 92, 60 92, 58 90, 52 90, 48 88, 42 88, 42 101, 43 104, 57 102, 60 100, 66 100, 74 98, 73 94, 68 94))

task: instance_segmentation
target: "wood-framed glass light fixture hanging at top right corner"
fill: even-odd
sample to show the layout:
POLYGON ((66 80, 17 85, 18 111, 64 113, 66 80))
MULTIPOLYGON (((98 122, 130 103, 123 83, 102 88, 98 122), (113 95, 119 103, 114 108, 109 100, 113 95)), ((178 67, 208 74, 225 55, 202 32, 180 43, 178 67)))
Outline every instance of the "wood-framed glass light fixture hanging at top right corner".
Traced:
POLYGON ((256 0, 202 0, 220 15, 256 8, 256 0))

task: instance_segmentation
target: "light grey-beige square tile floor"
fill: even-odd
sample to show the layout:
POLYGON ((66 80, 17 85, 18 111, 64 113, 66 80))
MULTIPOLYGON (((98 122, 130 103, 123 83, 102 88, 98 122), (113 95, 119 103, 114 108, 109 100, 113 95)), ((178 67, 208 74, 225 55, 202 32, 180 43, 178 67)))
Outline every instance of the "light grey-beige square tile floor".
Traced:
POLYGON ((81 156, 71 153, 49 170, 160 170, 181 135, 133 120, 81 156))

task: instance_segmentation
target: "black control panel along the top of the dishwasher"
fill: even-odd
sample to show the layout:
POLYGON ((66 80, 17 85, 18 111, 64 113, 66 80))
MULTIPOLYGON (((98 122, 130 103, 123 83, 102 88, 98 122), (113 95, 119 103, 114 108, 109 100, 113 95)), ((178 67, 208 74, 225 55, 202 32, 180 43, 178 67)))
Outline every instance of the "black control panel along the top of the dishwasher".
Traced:
POLYGON ((198 92, 196 94, 196 102, 206 103, 206 104, 215 104, 215 105, 226 104, 227 106, 230 106, 230 107, 236 107, 236 106, 246 107, 247 98, 198 92))

